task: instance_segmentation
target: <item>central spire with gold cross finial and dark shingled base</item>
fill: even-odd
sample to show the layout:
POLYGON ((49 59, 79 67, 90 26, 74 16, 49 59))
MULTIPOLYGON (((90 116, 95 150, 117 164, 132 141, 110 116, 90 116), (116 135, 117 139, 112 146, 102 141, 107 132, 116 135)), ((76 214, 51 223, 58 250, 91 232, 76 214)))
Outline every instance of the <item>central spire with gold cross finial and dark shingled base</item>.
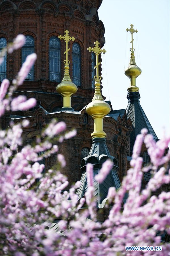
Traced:
POLYGON ((100 80, 99 76, 99 65, 98 56, 102 52, 106 51, 101 50, 99 47, 98 41, 95 42, 95 47, 89 47, 87 50, 89 52, 94 52, 96 55, 96 76, 95 79, 95 95, 86 107, 86 112, 92 116, 94 120, 94 132, 91 134, 92 137, 92 146, 87 157, 84 157, 81 161, 81 185, 77 189, 78 199, 82 198, 87 191, 88 183, 86 179, 86 167, 88 163, 92 163, 94 166, 93 177, 99 172, 101 165, 106 159, 110 159, 113 162, 113 168, 102 183, 95 182, 95 196, 98 201, 98 208, 103 208, 106 202, 106 196, 108 194, 108 189, 110 187, 115 187, 116 189, 120 188, 120 180, 117 175, 117 161, 115 157, 111 156, 106 145, 106 133, 103 131, 103 118, 110 112, 110 106, 106 103, 101 94, 100 90, 100 80))

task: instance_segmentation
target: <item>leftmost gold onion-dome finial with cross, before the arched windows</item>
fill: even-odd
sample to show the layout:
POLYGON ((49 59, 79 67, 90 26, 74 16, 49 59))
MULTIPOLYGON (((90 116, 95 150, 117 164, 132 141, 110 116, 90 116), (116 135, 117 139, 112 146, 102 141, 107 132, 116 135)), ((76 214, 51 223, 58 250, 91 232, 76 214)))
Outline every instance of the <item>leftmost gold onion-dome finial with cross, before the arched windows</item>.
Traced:
POLYGON ((69 31, 65 30, 64 31, 65 35, 62 36, 58 36, 58 38, 64 39, 64 41, 66 42, 66 51, 64 52, 64 54, 66 54, 66 60, 64 60, 64 77, 61 81, 61 83, 59 85, 57 85, 56 87, 56 91, 58 93, 60 93, 63 97, 63 107, 62 110, 73 110, 71 107, 71 97, 74 93, 77 92, 77 86, 72 82, 71 78, 70 78, 70 74, 69 74, 69 64, 70 64, 70 60, 68 60, 68 51, 70 50, 70 48, 68 48, 68 42, 70 40, 74 41, 75 38, 74 36, 70 37, 69 36, 69 31))

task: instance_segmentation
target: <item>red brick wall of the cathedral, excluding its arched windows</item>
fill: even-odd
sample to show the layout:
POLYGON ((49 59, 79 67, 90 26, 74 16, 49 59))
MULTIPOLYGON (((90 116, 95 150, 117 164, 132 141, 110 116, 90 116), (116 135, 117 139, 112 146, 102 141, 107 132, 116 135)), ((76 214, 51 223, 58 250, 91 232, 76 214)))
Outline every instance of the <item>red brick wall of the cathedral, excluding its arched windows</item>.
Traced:
MULTIPOLYGON (((25 81, 18 88, 19 94, 24 94, 28 98, 35 97, 41 102, 41 106, 52 112, 54 107, 62 106, 62 97, 56 93, 57 83, 49 81, 49 38, 64 34, 64 30, 70 31, 70 36, 75 37, 75 42, 81 46, 81 87, 72 97, 72 107, 75 110, 81 110, 85 105, 91 102, 94 89, 91 87, 91 53, 87 51, 89 46, 94 45, 98 40, 100 46, 104 45, 104 25, 99 21, 98 14, 90 15, 90 9, 98 8, 102 1, 12 1, 7 5, 1 3, 0 37, 5 37, 10 42, 17 34, 30 34, 35 40, 35 52, 37 61, 35 63, 35 81, 25 81), (44 5, 42 4, 44 3, 44 5), (11 5, 11 7, 10 7, 11 5)), ((94 9, 93 9, 94 11, 94 9)), ((72 44, 70 42, 70 77, 72 78, 72 44)), ((61 77, 64 75, 64 51, 65 44, 61 40, 61 77)), ((7 78, 13 79, 21 66, 21 50, 15 51, 7 57, 7 78)), ((100 72, 102 68, 100 67, 100 72)), ((77 136, 71 140, 65 141, 59 145, 60 152, 67 160, 67 165, 62 169, 62 173, 68 176, 70 183, 81 178, 79 170, 81 163, 81 149, 83 147, 91 148, 91 133, 93 132, 93 120, 88 117, 87 124, 83 122, 83 114, 56 113, 46 115, 45 111, 38 108, 35 111, 16 111, 11 114, 21 116, 32 116, 29 118, 30 126, 24 129, 24 143, 30 143, 32 138, 41 132, 41 128, 49 123, 51 118, 58 118, 66 122, 68 130, 77 129, 77 136), (39 124, 39 115, 42 115, 41 125, 39 124)), ((6 119, 2 119, 3 127, 7 126, 10 120, 10 113, 7 113, 6 119)), ((129 154, 129 134, 131 131, 131 121, 126 116, 117 121, 113 118, 104 119, 104 131, 107 133, 107 146, 110 154, 119 157, 119 178, 127 172, 127 154, 129 154), (121 135, 119 130, 121 129, 121 135), (116 139, 115 139, 116 138, 116 139)), ((56 164, 56 155, 46 159, 46 168, 51 168, 56 164)))

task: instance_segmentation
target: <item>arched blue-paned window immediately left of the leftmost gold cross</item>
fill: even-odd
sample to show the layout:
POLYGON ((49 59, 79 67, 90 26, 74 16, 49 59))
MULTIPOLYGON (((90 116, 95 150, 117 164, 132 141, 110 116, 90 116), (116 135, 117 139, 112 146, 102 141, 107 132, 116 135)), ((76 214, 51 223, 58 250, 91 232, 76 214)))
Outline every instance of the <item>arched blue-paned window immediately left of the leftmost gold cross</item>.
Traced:
POLYGON ((60 82, 60 40, 56 36, 49 40, 49 80, 60 82))

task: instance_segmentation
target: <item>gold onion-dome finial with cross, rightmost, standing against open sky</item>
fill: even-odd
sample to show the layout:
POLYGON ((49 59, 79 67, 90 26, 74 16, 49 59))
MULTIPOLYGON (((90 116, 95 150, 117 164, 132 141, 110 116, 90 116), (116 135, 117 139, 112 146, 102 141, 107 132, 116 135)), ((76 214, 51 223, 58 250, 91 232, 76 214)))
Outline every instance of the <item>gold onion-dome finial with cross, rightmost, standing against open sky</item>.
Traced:
POLYGON ((129 65, 127 67, 127 69, 125 69, 125 75, 127 75, 130 79, 131 79, 131 86, 128 87, 128 91, 129 92, 138 92, 139 91, 139 88, 136 86, 136 78, 141 74, 141 69, 140 67, 138 67, 136 65, 136 62, 135 62, 135 54, 134 54, 134 51, 135 49, 133 48, 133 33, 134 32, 138 32, 138 30, 134 29, 133 28, 133 24, 131 24, 131 28, 126 28, 126 31, 130 32, 131 33, 131 44, 132 44, 132 48, 130 48, 130 51, 131 51, 131 59, 130 59, 130 62, 129 62, 129 65))

